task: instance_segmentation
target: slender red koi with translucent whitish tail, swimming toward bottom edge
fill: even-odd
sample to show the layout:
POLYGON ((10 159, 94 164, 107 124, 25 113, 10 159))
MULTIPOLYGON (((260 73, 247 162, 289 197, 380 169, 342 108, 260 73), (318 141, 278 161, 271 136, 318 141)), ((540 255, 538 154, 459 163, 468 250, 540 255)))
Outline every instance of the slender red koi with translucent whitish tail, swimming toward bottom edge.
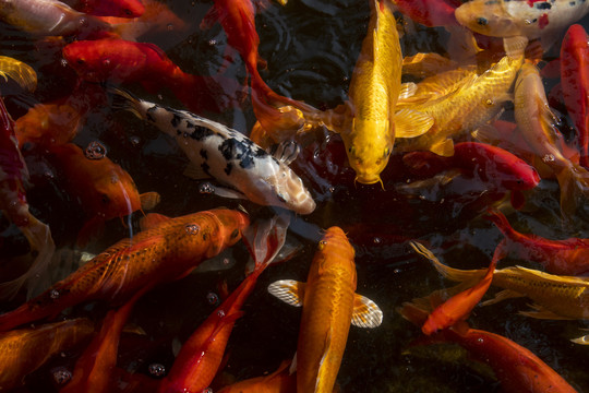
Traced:
POLYGON ((208 388, 223 360, 233 325, 243 314, 241 307, 253 291, 257 277, 283 247, 289 223, 288 218, 275 217, 254 234, 250 234, 251 227, 245 229, 248 234, 243 239, 255 261, 253 272, 182 345, 170 372, 161 380, 158 393, 197 393, 208 388), (253 238, 247 240, 247 235, 253 238), (260 253, 256 255, 256 252, 260 253))

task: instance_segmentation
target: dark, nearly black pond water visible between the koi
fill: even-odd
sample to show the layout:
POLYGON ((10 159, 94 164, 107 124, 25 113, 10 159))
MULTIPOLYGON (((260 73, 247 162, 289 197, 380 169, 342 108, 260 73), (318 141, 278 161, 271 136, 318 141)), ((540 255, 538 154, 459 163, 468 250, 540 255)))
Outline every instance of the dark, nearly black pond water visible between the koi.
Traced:
MULTIPOLYGON (((224 62, 225 34, 218 24, 208 31, 199 28, 212 3, 169 0, 167 4, 187 23, 187 28, 171 26, 141 39, 161 47, 185 72, 214 74, 224 62)), ((260 55, 267 61, 267 70, 262 72, 262 76, 277 93, 317 108, 341 104, 347 98, 369 14, 368 2, 363 0, 291 0, 284 8, 276 3, 267 4, 256 16, 260 55)), ((581 21, 585 26, 589 25, 587 22, 587 19, 581 21)), ((32 103, 68 94, 74 73, 61 62, 59 46, 38 43, 10 26, 0 27, 1 55, 29 63, 39 76, 34 96, 8 96, 7 105, 14 118, 24 114, 32 103)), ((404 55, 443 51, 448 38, 443 29, 417 25, 416 28, 408 29, 409 33, 401 38, 404 55)), ((554 56, 553 51, 546 56, 554 56)), ((245 79, 243 63, 237 53, 225 75, 239 81, 245 79)), ((153 96, 140 86, 127 87, 142 97, 180 107, 176 98, 166 92, 153 96)), ((249 100, 241 109, 209 116, 244 133, 255 121, 249 100)), ((513 112, 508 109, 505 117, 510 116, 513 112)), ((292 357, 300 310, 269 296, 266 287, 277 279, 305 281, 321 228, 338 225, 348 231, 357 251, 357 291, 374 300, 384 312, 383 324, 377 329, 351 327, 338 374, 341 391, 500 391, 492 371, 470 361, 458 346, 409 347, 409 343, 421 333, 396 312, 404 301, 454 285, 441 278, 428 261, 412 252, 407 240, 426 242, 442 262, 455 267, 486 266, 502 235, 490 222, 480 218, 480 214, 496 198, 489 195, 485 186, 476 181, 455 183, 444 190, 443 200, 424 201, 398 195, 394 192, 394 184, 408 178, 398 172, 399 159, 395 156, 383 176, 386 190, 377 184, 354 186, 353 172, 347 166, 339 139, 328 134, 317 138, 317 142, 303 150, 293 164, 318 203, 313 214, 298 216, 292 223, 289 241, 299 242, 303 248, 293 259, 268 269, 260 277, 255 291, 245 303, 245 313, 230 337, 225 378, 257 377, 273 371, 281 360, 292 357)), ((265 214, 265 209, 247 202, 201 194, 200 183, 182 176, 188 160, 176 143, 130 114, 115 114, 108 107, 93 110, 74 142, 85 146, 94 140, 104 143, 109 157, 131 174, 140 192, 157 191, 161 194, 161 202, 155 210, 157 213, 178 216, 221 205, 237 207, 241 203, 252 212, 252 216, 265 214)), ((43 154, 41 157, 33 153, 25 156, 32 170, 33 184, 28 190, 32 211, 50 224, 58 248, 71 249, 81 226, 81 206, 69 200, 59 179, 43 177, 43 154)), ((539 189, 528 193, 527 198, 526 210, 509 215, 514 227, 548 238, 589 236, 589 226, 581 219, 573 233, 561 227, 558 188, 554 181, 542 181, 539 189)), ((135 230, 140 216, 135 213, 132 218, 135 230)), ((26 252, 26 240, 5 218, 1 224, 1 255, 5 265, 13 255, 26 252)), ((129 229, 115 219, 108 223, 104 238, 84 251, 100 252, 128 236, 129 229)), ((217 284, 224 279, 231 290, 243 278, 248 259, 243 246, 238 245, 230 258, 236 260, 230 270, 192 274, 144 296, 135 306, 131 322, 141 326, 145 334, 123 334, 119 367, 144 374, 149 374, 149 366, 154 364, 169 369, 173 361, 172 347, 185 341, 216 307, 207 301, 207 295, 218 293, 217 284)), ((515 263, 525 262, 506 259, 500 267, 515 263)), ((56 267, 55 279, 68 272, 68 266, 56 267)), ((492 288, 491 293, 494 291, 492 288)), ((11 303, 4 303, 2 310, 10 310, 23 300, 21 296, 11 303)), ((581 329, 587 327, 587 323, 519 315, 518 311, 528 309, 527 302, 516 299, 477 307, 469 322, 529 348, 579 391, 589 392, 589 376, 585 367, 585 361, 589 361, 587 348, 569 342, 584 334, 581 329)), ((98 321, 104 311, 100 306, 87 306, 75 308, 72 313, 98 321)), ((52 372, 58 368, 73 369, 81 350, 83 348, 52 359, 28 376, 20 391, 57 391, 52 372)))

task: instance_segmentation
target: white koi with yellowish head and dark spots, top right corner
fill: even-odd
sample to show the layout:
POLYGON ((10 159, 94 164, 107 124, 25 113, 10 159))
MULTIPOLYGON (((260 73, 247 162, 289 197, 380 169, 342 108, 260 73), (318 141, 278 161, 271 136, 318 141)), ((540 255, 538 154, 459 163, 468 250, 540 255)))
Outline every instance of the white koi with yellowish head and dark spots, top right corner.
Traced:
POLYGON ((548 37, 589 12, 587 0, 472 0, 456 9, 456 20, 473 32, 494 36, 548 37))

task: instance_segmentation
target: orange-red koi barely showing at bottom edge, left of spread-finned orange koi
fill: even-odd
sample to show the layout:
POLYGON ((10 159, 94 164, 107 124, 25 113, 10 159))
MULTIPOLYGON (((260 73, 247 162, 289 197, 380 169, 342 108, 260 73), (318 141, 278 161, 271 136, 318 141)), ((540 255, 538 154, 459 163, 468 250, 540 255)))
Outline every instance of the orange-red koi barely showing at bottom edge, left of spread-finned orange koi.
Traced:
POLYGON ((233 383, 219 393, 297 393, 297 377, 288 372, 289 365, 290 360, 283 361, 273 373, 233 383))

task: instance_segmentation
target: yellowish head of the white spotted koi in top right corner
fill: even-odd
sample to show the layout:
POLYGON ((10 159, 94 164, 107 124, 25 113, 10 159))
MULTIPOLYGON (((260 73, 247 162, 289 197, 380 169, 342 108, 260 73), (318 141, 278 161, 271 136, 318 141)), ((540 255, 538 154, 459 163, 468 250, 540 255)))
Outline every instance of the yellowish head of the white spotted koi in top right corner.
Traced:
POLYGON ((458 23, 472 32, 492 37, 520 35, 517 19, 505 9, 503 0, 473 0, 458 7, 455 11, 458 23))

